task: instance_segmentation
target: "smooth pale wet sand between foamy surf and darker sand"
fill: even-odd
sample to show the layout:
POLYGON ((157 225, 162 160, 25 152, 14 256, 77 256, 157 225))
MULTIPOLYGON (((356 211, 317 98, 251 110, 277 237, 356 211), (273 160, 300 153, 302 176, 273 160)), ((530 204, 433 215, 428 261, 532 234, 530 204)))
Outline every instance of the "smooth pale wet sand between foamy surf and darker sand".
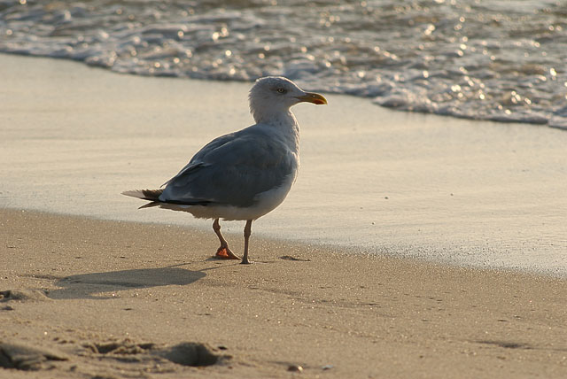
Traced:
MULTIPOLYGON (((0 62, 0 206, 210 229, 136 211, 141 202, 120 192, 158 188, 214 137, 250 125, 249 83, 0 62)), ((255 236, 567 276, 566 132, 325 96, 329 105, 293 107, 298 181, 255 236)))

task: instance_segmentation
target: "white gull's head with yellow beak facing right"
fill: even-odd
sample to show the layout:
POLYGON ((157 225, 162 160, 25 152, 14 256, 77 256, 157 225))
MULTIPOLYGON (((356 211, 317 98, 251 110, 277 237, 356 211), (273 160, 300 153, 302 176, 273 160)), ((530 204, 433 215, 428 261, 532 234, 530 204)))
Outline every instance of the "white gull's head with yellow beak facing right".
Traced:
POLYGON ((250 90, 250 112, 256 122, 287 113, 298 103, 327 104, 322 95, 306 92, 297 84, 282 76, 267 76, 258 79, 250 90))

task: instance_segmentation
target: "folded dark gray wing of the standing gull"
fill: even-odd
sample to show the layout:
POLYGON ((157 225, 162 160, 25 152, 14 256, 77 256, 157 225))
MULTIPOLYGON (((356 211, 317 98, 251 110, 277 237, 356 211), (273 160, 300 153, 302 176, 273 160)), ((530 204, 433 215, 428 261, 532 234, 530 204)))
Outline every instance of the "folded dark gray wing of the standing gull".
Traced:
POLYGON ((159 199, 250 206, 260 192, 281 186, 296 167, 283 141, 260 128, 246 128, 206 144, 167 182, 159 199))

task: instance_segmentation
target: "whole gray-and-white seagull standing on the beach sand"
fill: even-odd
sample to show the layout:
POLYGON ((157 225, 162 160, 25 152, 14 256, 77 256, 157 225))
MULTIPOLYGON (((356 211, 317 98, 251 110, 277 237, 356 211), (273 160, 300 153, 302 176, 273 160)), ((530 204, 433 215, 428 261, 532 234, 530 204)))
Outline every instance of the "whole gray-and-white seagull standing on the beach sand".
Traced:
POLYGON ((291 112, 299 103, 327 104, 322 95, 306 92, 287 78, 258 79, 249 95, 256 123, 207 143, 187 166, 159 190, 127 190, 123 195, 150 201, 141 206, 191 213, 212 219, 221 242, 215 258, 240 259, 221 234, 222 220, 245 220, 245 251, 252 221, 282 204, 299 169, 299 124, 291 112))

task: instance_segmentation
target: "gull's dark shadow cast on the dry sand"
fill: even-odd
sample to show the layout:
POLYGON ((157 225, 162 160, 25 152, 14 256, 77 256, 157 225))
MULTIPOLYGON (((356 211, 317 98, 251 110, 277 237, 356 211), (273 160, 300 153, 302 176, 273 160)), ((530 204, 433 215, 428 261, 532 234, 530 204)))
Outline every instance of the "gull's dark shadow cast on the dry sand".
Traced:
MULTIPOLYGON (((177 265, 182 266, 182 265, 177 265)), ((61 278, 56 284, 58 290, 50 290, 53 299, 66 298, 114 298, 120 290, 144 289, 167 285, 187 285, 205 277, 202 271, 190 271, 180 267, 138 268, 133 270, 110 271, 71 275, 61 278), (112 292, 112 296, 95 296, 101 292, 112 292)))

